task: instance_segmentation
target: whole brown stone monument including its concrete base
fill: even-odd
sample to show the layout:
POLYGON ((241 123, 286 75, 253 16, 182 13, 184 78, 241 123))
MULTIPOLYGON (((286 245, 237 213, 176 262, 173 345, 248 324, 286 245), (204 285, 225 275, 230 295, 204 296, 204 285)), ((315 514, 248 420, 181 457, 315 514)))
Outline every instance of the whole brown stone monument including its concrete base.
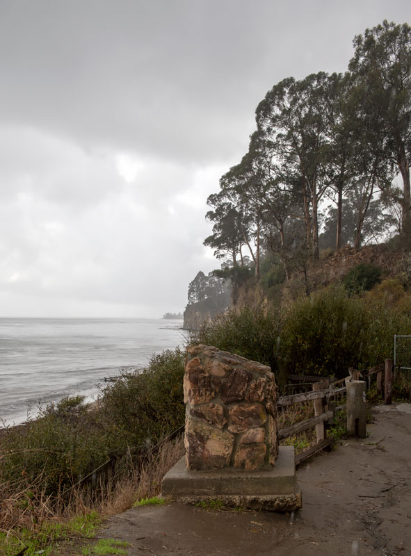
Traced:
POLYGON ((163 496, 277 511, 301 507, 293 447, 278 445, 271 368, 206 345, 187 352, 186 456, 164 477, 163 496))

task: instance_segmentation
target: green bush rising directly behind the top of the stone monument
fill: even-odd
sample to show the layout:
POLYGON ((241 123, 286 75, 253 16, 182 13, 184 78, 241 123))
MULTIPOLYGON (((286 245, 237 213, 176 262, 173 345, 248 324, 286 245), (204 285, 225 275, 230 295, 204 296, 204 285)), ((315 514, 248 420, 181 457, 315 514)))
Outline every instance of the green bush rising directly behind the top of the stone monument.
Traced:
POLYGON ((244 306, 206 321, 191 335, 193 344, 214 345, 276 368, 275 349, 280 319, 276 311, 244 306))

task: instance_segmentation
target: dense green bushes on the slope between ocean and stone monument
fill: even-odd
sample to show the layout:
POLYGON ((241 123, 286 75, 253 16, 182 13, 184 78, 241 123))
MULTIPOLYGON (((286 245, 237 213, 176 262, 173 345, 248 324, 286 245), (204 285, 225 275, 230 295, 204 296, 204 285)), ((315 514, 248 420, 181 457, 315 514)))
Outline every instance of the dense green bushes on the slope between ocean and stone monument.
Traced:
POLYGON ((40 411, 23 429, 1 438, 0 481, 65 491, 108 459, 108 452, 143 443, 184 423, 184 353, 152 357, 141 373, 122 375, 102 390, 99 409, 65 398, 40 411))

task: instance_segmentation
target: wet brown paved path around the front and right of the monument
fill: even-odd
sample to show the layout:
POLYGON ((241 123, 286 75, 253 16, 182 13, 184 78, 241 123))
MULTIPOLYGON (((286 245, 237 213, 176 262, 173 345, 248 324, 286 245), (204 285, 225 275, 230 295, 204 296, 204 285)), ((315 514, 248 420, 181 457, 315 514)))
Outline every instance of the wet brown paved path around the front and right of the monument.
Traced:
POLYGON ((411 404, 376 407, 373 417, 367 439, 300 468, 299 512, 172 503, 114 516, 102 536, 129 541, 129 556, 411 556, 411 404))

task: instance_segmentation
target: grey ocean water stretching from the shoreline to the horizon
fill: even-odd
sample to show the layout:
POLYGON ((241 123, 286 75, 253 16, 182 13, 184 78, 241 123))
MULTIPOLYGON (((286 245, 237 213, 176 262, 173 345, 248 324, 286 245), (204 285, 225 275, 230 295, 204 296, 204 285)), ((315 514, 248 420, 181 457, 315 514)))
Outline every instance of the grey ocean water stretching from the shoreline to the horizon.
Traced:
POLYGON ((98 385, 152 354, 184 345, 182 320, 0 318, 0 427, 34 418, 67 395, 97 398, 98 385))

